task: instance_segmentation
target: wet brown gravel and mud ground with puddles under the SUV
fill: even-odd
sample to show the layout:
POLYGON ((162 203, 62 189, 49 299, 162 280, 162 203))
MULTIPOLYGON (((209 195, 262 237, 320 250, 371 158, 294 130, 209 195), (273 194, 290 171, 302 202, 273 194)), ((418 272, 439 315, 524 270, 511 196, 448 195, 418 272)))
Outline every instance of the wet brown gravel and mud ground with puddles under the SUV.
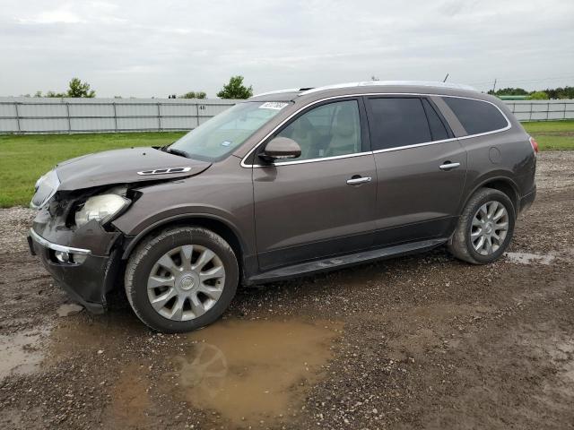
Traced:
POLYGON ((444 249, 239 290, 189 335, 68 302, 0 211, 0 428, 574 428, 574 152, 509 255, 444 249), (65 308, 71 309, 71 308, 65 308))

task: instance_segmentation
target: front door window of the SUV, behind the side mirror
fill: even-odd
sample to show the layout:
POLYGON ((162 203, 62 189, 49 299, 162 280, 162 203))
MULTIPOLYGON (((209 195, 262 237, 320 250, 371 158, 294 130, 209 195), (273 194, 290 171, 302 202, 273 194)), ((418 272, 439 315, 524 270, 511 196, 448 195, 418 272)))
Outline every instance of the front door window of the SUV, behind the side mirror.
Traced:
POLYGON ((361 121, 356 100, 315 107, 297 117, 276 137, 299 143, 298 159, 322 159, 361 152, 361 121))

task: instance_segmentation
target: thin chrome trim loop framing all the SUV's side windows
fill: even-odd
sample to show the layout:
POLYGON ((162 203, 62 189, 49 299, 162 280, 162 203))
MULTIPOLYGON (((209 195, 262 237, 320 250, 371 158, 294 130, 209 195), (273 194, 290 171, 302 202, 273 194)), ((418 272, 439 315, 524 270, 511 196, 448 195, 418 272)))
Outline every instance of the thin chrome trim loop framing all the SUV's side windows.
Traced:
POLYGON ((240 166, 242 168, 269 168, 269 167, 273 167, 273 166, 288 166, 291 164, 304 164, 304 163, 316 163, 319 161, 326 161, 329 159, 346 159, 346 158, 350 158, 350 157, 359 157, 361 155, 366 155, 366 154, 378 154, 381 152, 390 152, 390 151, 394 151, 394 150, 408 150, 411 148, 417 148, 419 146, 428 146, 428 145, 433 145, 433 144, 438 144, 438 143, 444 143, 444 142, 451 142, 451 141, 457 141, 457 140, 461 140, 461 139, 470 139, 473 137, 480 137, 480 136, 485 136, 488 134, 493 134, 493 133, 501 133, 501 132, 505 132, 507 130, 509 130, 512 127, 509 117, 506 116, 504 114, 504 112, 502 112, 502 110, 500 109, 500 107, 496 106, 494 103, 492 103, 491 101, 488 100, 482 100, 482 99, 474 99, 473 97, 467 97, 467 96, 453 96, 453 95, 449 95, 449 94, 427 94, 427 93, 419 93, 419 92, 369 92, 369 93, 362 93, 362 94, 344 94, 344 95, 339 95, 339 96, 331 96, 331 97, 326 97, 324 99, 318 99, 315 101, 312 101, 311 103, 309 103, 308 105, 305 105, 303 107, 300 107, 299 109, 297 109, 295 112, 293 112, 290 116, 288 116, 287 118, 283 119, 283 121, 279 124, 276 125, 274 127, 274 129, 265 134, 265 137, 263 139, 261 139, 259 142, 257 142, 257 144, 248 151, 247 155, 245 155, 245 157, 243 157, 241 159, 241 163, 240 166), (298 115, 302 110, 305 110, 308 107, 314 106, 317 103, 321 103, 323 101, 328 101, 328 100, 335 100, 335 99, 345 99, 345 98, 353 98, 353 97, 363 97, 363 96, 419 96, 419 97, 453 97, 453 98, 457 98, 457 99, 469 99, 469 100, 476 100, 476 101, 482 101, 483 103, 488 103, 490 105, 492 105, 493 107, 496 107, 498 109, 498 111, 500 112, 500 115, 502 115, 502 117, 504 117, 504 119, 506 120, 506 127, 503 128, 499 128, 497 130, 492 130, 490 132, 484 132, 484 133, 476 133, 476 134, 467 134, 465 136, 461 136, 461 137, 452 137, 449 139, 443 139, 440 141, 431 141, 431 142, 421 142, 421 143, 413 143, 412 145, 404 145, 404 146, 396 146, 394 148, 386 148, 386 149, 382 149, 382 150, 370 150, 370 151, 365 151, 365 152, 355 152, 352 154, 347 154, 347 155, 338 155, 335 157, 323 157, 323 158, 318 158, 318 159, 300 159, 300 160, 296 160, 296 161, 283 161, 283 162, 279 162, 279 163, 270 163, 270 164, 247 164, 245 162, 246 159, 248 159, 251 154, 253 152, 255 152, 255 150, 257 150, 257 148, 263 143, 265 142, 271 135, 273 135, 279 128, 281 128, 283 125, 285 125, 288 121, 291 120, 291 118, 293 116, 298 115))

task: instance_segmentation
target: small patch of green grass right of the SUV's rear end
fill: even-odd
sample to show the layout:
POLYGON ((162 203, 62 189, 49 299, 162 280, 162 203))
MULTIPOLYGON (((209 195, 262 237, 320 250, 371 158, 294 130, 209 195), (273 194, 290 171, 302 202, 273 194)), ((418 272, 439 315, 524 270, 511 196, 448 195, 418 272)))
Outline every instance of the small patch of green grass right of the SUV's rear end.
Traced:
POLYGON ((538 142, 540 150, 574 150, 574 121, 522 123, 538 142))

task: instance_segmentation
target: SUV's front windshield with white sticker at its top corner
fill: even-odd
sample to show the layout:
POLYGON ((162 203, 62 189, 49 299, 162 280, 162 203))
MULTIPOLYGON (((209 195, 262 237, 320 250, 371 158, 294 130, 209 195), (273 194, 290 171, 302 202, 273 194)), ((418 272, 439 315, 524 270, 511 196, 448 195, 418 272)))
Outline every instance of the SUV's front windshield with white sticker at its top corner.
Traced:
POLYGON ((187 133, 169 150, 183 151, 192 159, 222 159, 288 105, 283 101, 239 103, 187 133))

